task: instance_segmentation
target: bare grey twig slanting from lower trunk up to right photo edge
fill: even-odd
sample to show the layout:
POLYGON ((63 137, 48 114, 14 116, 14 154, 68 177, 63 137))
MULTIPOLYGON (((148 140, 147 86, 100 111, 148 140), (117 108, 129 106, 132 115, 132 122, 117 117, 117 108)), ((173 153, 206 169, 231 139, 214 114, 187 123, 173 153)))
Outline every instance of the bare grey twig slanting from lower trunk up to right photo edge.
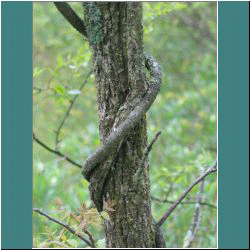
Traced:
POLYGON ((217 171, 217 161, 214 163, 213 167, 210 167, 205 173, 203 173, 190 187, 188 187, 184 193, 175 201, 175 203, 168 209, 168 211, 162 216, 162 218, 157 222, 161 226, 169 215, 175 210, 175 208, 181 203, 181 201, 186 197, 186 195, 192 190, 192 188, 202 181, 206 176, 217 171))

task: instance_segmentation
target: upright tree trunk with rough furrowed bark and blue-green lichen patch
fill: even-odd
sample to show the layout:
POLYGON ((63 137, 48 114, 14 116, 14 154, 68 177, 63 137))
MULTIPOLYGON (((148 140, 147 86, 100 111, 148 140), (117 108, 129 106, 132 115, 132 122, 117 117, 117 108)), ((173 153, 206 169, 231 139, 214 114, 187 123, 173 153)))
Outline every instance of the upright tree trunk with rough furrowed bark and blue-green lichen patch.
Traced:
MULTIPOLYGON (((106 143, 147 92, 140 2, 85 2, 85 23, 93 50, 100 118, 100 138, 106 143)), ((89 177, 98 211, 108 211, 106 246, 156 247, 151 215, 147 144, 143 115, 118 148, 89 177)))

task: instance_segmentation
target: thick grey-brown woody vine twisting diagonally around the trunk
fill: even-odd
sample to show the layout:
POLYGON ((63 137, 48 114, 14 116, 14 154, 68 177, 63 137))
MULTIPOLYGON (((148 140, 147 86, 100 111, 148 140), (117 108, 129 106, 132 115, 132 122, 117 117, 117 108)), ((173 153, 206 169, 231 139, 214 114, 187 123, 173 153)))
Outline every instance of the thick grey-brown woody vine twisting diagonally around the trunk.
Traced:
POLYGON ((125 137, 135 127, 143 115, 153 104, 161 86, 161 69, 157 61, 150 55, 144 55, 145 66, 149 70, 148 89, 142 96, 135 97, 132 103, 123 105, 118 111, 113 129, 104 144, 91 154, 82 167, 82 174, 90 182, 89 189, 97 210, 103 210, 103 186, 112 166, 115 155, 125 137), (94 171, 98 166, 101 168, 94 171))

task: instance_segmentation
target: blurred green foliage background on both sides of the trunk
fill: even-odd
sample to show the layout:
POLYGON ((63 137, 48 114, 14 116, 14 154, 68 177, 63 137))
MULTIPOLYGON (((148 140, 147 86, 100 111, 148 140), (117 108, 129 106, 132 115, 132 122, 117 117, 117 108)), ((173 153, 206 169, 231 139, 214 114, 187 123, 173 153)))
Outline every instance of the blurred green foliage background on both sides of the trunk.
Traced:
MULTIPOLYGON (((82 5, 71 3, 76 12, 82 5)), ((58 130, 72 99, 77 99, 59 135, 59 149, 74 161, 99 145, 96 90, 88 43, 72 29, 52 3, 34 3, 33 128, 36 136, 55 149, 58 130)), ((98 13, 97 13, 98 14, 98 13)), ((98 21, 98 20, 97 20, 98 21)), ((161 91, 148 112, 148 139, 162 134, 150 152, 151 194, 175 201, 216 159, 216 3, 144 3, 144 47, 160 62, 161 91)), ((33 204, 74 228, 82 204, 91 207, 88 183, 78 168, 36 142, 33 146, 33 204)), ((194 201, 195 187, 185 201, 194 201)), ((216 175, 205 181, 203 202, 216 205, 216 175)), ((170 203, 152 201, 156 220, 170 203)), ((202 206, 202 223, 193 247, 216 247, 217 210, 202 206)), ((92 211, 92 210, 91 210, 92 211)), ((179 205, 162 226, 167 247, 182 247, 192 222, 194 204, 179 205)), ((97 213, 86 223, 98 247, 104 230, 97 213)), ((34 247, 87 247, 61 226, 34 213, 34 247)))

